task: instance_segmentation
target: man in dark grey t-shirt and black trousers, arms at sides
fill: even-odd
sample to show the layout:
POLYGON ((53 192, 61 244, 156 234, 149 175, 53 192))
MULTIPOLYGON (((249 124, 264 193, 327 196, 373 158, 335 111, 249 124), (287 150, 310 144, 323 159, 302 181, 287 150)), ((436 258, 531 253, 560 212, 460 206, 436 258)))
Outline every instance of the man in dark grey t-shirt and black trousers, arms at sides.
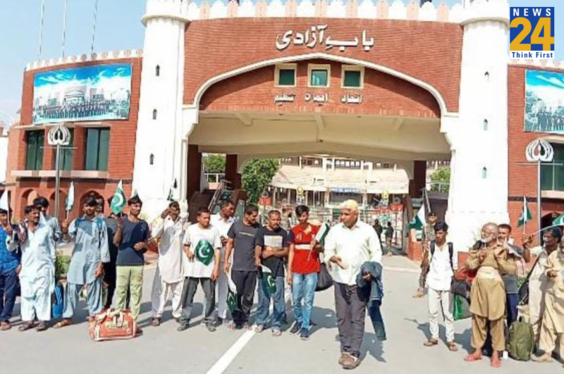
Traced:
POLYGON ((233 311, 233 323, 228 325, 229 330, 245 328, 250 330, 249 316, 252 302, 255 299, 257 287, 257 266, 260 259, 255 256, 255 236, 260 225, 257 223, 259 209, 255 205, 247 205, 242 221, 231 225, 226 244, 225 266, 223 271, 229 276, 237 287, 237 306, 233 311), (231 268, 231 254, 233 254, 233 268, 231 268))

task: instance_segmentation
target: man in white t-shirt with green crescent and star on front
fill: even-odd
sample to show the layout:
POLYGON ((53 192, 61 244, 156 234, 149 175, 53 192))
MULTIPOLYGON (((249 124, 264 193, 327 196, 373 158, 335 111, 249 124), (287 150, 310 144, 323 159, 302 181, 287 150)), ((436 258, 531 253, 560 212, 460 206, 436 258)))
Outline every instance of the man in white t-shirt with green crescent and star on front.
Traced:
POLYGON ((198 209, 196 225, 190 225, 184 236, 184 252, 188 257, 182 290, 182 316, 178 331, 186 330, 190 325, 192 304, 198 284, 202 285, 206 297, 204 306, 204 324, 209 332, 216 330, 214 310, 216 307, 216 280, 219 277, 219 254, 221 239, 219 232, 210 223, 207 208, 198 209))

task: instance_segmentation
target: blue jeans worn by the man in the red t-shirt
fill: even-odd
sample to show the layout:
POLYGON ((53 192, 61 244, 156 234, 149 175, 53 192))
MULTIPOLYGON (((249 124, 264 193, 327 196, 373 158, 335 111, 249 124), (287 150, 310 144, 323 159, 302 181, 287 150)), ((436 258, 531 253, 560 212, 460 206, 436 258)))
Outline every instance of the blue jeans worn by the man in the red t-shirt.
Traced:
POLYGON ((311 324, 313 299, 317 286, 317 273, 292 274, 292 299, 295 321, 309 330, 311 324), (302 306, 302 298, 304 305, 302 306))

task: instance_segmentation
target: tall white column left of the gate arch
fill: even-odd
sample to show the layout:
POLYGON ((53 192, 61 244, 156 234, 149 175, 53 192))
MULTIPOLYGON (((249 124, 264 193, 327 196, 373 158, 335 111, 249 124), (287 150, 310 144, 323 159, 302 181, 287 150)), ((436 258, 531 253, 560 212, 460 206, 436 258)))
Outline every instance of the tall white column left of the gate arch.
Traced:
POLYGON ((144 201, 143 211, 151 219, 166 206, 175 180, 175 199, 185 189, 182 174, 188 144, 182 107, 188 2, 149 0, 142 23, 145 43, 133 180, 144 201), (153 165, 149 164, 151 155, 153 165))

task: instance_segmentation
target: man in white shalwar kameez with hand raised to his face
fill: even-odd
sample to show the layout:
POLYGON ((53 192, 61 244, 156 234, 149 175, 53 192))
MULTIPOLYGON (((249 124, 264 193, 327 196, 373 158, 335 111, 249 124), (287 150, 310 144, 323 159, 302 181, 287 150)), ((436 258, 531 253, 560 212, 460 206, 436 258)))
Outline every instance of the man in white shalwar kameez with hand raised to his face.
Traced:
POLYGON ((177 201, 168 204, 168 208, 153 223, 151 236, 159 238, 159 263, 154 274, 151 293, 151 325, 161 324, 164 305, 168 294, 172 293, 172 316, 180 320, 182 306, 182 287, 184 281, 183 239, 186 217, 180 217, 180 205, 177 201))

